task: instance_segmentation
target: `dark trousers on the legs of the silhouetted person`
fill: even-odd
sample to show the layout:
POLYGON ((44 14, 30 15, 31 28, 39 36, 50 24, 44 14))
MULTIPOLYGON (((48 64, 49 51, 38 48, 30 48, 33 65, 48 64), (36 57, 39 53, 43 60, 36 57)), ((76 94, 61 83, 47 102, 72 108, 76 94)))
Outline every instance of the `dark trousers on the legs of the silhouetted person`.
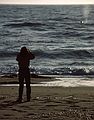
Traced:
POLYGON ((29 71, 29 69, 20 69, 19 70, 19 99, 20 100, 22 100, 24 80, 26 83, 27 101, 30 101, 31 87, 30 87, 30 71, 29 71))

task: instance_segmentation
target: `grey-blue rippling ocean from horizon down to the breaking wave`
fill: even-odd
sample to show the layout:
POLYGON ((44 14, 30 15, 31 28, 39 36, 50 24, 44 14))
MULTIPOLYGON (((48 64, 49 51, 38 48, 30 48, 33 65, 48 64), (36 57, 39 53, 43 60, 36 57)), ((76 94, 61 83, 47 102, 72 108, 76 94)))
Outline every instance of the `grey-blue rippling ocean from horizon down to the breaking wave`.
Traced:
POLYGON ((0 75, 17 74, 22 46, 38 75, 94 75, 93 5, 0 5, 0 75))

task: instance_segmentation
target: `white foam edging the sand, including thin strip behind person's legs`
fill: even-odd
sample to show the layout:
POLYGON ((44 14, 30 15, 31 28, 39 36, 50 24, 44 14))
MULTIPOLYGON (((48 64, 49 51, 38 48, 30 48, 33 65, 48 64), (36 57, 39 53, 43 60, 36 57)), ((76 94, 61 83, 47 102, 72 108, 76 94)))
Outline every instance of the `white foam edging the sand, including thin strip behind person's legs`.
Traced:
MULTIPOLYGON (((0 86, 19 86, 19 84, 2 84, 0 86)), ((24 84, 24 86, 26 86, 24 84)), ((90 86, 94 87, 94 77, 61 77, 55 78, 55 81, 40 82, 39 84, 31 84, 31 86, 61 86, 61 87, 80 87, 90 86)))

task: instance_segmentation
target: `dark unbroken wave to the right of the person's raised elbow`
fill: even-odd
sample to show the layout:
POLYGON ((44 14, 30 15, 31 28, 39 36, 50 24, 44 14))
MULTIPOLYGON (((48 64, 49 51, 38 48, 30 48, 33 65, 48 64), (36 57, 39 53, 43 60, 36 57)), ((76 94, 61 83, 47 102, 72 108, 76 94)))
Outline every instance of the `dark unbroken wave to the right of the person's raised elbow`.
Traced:
POLYGON ((34 51, 36 56, 44 58, 91 58, 94 57, 94 50, 75 50, 75 49, 56 49, 53 51, 43 51, 41 49, 34 51))

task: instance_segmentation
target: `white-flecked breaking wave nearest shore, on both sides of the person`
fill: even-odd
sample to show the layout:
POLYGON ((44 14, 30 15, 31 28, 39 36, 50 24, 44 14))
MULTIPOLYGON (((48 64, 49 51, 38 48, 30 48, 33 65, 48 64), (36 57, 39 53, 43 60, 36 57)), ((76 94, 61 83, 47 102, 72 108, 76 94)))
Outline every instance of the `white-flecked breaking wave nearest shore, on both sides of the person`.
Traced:
MULTIPOLYGON (((18 68, 17 66, 6 66, 1 67, 0 74, 17 74, 18 68)), ((31 74, 36 75, 94 75, 94 68, 71 68, 71 67, 63 67, 63 68, 30 68, 31 74)))

